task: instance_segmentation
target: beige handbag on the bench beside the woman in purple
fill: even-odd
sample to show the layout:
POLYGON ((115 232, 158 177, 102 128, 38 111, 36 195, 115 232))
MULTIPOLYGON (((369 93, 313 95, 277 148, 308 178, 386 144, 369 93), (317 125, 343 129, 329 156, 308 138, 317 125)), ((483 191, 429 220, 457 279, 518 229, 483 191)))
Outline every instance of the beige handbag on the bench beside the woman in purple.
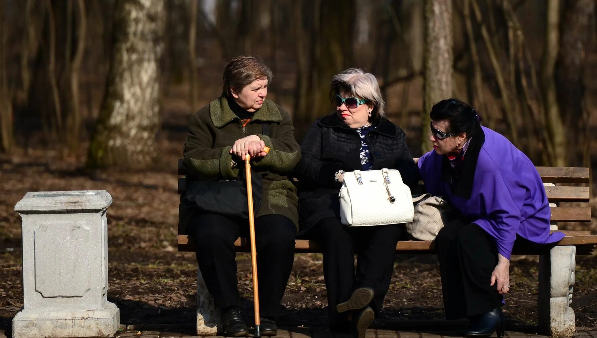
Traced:
POLYGON ((444 224, 448 222, 450 206, 439 196, 423 194, 413 197, 414 218, 407 223, 407 231, 414 238, 421 241, 432 241, 438 235, 444 224))

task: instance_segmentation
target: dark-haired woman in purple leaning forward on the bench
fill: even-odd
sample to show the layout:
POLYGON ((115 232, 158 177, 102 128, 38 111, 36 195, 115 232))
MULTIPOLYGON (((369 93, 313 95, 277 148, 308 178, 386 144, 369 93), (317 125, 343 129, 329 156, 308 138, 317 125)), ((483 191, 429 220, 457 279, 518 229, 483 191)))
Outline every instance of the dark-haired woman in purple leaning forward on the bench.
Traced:
POLYGON ((464 336, 501 337, 513 248, 547 248, 564 234, 549 233, 549 204, 531 160, 482 127, 473 108, 443 100, 430 117, 433 151, 417 164, 427 191, 455 213, 435 239, 446 317, 469 318, 464 336))

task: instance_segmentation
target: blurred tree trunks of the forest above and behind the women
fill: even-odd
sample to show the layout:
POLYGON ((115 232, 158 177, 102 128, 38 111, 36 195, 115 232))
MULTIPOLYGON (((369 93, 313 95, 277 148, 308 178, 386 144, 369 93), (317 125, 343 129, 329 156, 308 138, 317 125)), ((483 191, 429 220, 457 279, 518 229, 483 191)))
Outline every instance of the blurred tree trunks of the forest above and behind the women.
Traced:
POLYGON ((2 0, 0 32, 8 154, 155 163, 164 128, 220 95, 226 60, 255 54, 299 141, 332 111, 331 76, 362 67, 414 156, 454 96, 536 165, 597 161, 594 0, 2 0))

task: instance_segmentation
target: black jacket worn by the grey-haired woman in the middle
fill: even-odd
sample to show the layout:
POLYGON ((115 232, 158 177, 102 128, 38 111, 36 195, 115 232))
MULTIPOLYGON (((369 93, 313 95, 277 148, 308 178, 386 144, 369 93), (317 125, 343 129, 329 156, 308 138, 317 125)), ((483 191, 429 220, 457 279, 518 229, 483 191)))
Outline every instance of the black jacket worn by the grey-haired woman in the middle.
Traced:
MULTIPOLYGON (((402 129, 381 119, 367 134, 371 169, 398 169, 411 190, 420 178, 418 167, 408 150, 402 129)), ((325 218, 340 219, 338 192, 341 184, 334 174, 361 170, 361 139, 336 113, 316 120, 301 144, 301 160, 295 168, 300 182, 298 219, 300 234, 325 218)))

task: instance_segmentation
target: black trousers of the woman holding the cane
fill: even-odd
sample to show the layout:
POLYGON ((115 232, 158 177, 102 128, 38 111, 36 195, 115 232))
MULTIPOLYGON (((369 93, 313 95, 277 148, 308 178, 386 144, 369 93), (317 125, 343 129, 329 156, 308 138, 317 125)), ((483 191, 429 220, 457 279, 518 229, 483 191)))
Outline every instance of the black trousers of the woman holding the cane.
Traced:
MULTIPOLYGON (((239 306, 236 278, 238 237, 248 237, 248 220, 213 213, 193 216, 187 227, 195 243, 197 262, 207 290, 218 308, 239 306)), ((294 262, 296 226, 286 216, 266 215, 255 220, 259 309, 262 317, 276 317, 294 262)))

